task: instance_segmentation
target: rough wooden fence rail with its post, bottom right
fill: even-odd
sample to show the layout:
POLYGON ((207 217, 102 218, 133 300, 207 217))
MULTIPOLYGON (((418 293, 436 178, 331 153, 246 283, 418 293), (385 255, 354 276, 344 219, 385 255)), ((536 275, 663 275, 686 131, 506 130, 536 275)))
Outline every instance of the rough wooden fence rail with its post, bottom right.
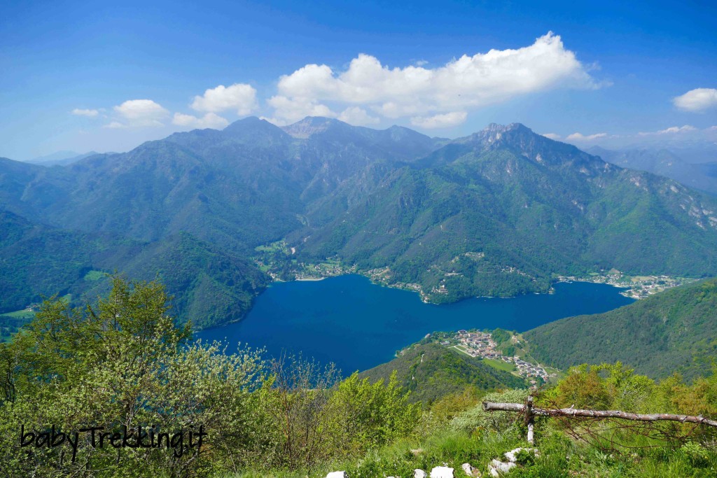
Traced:
POLYGON ((624 419, 635 421, 680 421, 682 423, 701 424, 717 428, 717 420, 706 419, 703 416, 676 415, 676 414, 630 414, 619 410, 581 410, 580 408, 536 408, 533 407, 533 397, 528 397, 528 403, 495 403, 483 402, 485 411, 514 411, 526 416, 528 423, 528 443, 533 444, 533 418, 535 416, 583 416, 592 419, 624 419))

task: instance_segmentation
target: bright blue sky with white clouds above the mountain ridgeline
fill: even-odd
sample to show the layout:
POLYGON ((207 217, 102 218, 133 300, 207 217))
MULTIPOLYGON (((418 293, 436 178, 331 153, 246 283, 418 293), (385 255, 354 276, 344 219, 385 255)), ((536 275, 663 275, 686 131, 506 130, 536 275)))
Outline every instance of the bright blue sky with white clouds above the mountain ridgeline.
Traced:
POLYGON ((0 156, 128 150, 246 115, 717 139, 715 2, 114 3, 0 6, 0 156))

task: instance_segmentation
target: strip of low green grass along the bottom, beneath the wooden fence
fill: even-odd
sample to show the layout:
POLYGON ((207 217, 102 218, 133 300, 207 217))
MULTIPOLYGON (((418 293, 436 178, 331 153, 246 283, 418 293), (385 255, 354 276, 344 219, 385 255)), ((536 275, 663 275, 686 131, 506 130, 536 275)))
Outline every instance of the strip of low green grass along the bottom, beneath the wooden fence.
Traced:
MULTIPOLYGON (((639 440, 635 444, 640 444, 639 440)), ((336 461, 311 470, 247 470, 220 474, 216 478, 323 478, 328 472, 346 471, 356 477, 412 477, 414 469, 429 473, 433 467, 454 469, 454 476, 465 476, 461 465, 470 463, 488 476, 492 459, 504 459, 505 451, 527 446, 514 435, 437 431, 424 438, 402 439, 361 457, 336 461)), ((511 477, 715 477, 717 453, 701 446, 638 448, 627 451, 601 451, 559 431, 538 434, 540 455, 533 464, 513 469, 511 477)))

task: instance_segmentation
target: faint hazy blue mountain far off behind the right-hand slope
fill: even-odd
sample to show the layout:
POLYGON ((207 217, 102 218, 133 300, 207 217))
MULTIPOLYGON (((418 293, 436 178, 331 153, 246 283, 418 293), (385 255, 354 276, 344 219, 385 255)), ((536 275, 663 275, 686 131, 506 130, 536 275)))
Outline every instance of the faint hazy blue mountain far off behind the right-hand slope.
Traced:
POLYGON ((587 151, 622 168, 659 174, 690 188, 717 194, 717 176, 709 169, 717 163, 693 164, 668 149, 607 150, 593 146, 587 151))

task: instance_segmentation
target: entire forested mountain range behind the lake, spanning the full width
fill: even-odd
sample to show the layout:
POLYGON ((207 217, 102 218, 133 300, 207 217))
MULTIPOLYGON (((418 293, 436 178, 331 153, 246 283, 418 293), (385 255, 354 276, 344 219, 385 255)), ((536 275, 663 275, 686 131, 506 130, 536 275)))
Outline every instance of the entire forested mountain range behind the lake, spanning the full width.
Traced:
POLYGON ((183 320, 238 320, 270 282, 255 248, 281 239, 288 263, 381 269, 433 302, 613 267, 717 275, 716 199, 520 124, 448 140, 246 118, 67 166, 2 158, 0 211, 0 312, 118 270, 161 277, 183 320))

